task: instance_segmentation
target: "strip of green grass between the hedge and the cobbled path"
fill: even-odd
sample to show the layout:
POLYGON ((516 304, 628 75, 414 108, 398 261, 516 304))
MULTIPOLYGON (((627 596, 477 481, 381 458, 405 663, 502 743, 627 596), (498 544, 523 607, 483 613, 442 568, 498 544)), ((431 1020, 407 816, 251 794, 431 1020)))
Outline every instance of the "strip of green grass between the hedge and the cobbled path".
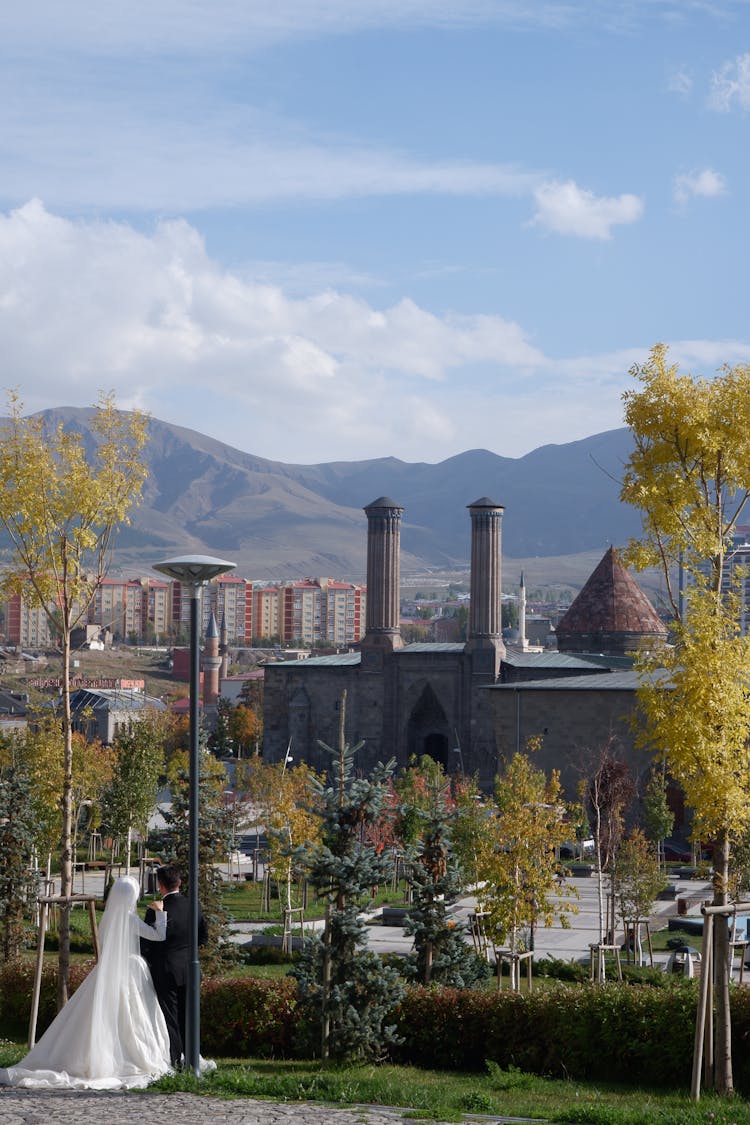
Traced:
MULTIPOLYGON (((18 1043, 0 1041, 0 1065, 17 1062, 24 1050, 18 1043)), ((202 1079, 175 1074, 154 1083, 151 1090, 400 1106, 409 1110, 407 1116, 441 1122, 490 1114, 577 1125, 750 1125, 750 1102, 743 1098, 723 1101, 707 1096, 696 1105, 686 1091, 534 1078, 494 1064, 482 1074, 459 1074, 410 1066, 224 1059, 202 1079)))

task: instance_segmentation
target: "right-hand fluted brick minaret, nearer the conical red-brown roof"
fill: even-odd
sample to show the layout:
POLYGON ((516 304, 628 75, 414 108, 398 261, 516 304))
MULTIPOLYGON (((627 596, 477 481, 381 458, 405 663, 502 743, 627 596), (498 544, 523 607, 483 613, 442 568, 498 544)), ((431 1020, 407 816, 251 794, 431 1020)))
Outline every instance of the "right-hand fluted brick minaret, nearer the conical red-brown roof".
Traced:
POLYGON ((500 614, 501 504, 482 496, 469 504, 471 513, 471 610, 469 641, 471 670, 475 675, 497 680, 505 656, 500 614))

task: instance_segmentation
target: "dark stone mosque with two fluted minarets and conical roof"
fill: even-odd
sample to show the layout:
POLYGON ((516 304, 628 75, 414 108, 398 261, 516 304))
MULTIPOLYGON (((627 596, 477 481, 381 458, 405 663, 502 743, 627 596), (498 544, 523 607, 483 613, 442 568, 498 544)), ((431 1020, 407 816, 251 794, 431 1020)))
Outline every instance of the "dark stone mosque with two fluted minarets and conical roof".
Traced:
POLYGON ((468 639, 404 644, 399 631, 400 524, 404 508, 387 496, 365 508, 367 622, 354 651, 287 660, 265 667, 263 755, 318 770, 319 746, 337 747, 342 732, 361 742, 358 766, 430 755, 448 772, 477 775, 489 790, 503 760, 541 736, 540 767, 561 771, 575 796, 587 753, 616 738, 633 749, 633 649, 667 634, 632 576, 609 548, 559 622, 559 650, 506 648, 500 623, 504 508, 487 496, 468 505, 471 536, 468 639))

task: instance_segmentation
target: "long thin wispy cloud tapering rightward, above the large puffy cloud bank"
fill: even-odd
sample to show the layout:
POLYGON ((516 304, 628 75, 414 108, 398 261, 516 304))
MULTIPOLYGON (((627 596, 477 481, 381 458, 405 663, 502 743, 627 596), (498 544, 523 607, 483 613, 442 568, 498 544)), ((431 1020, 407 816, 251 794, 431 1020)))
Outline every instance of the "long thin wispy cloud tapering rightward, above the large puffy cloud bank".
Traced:
POLYGON ((300 199, 519 196, 540 180, 513 164, 319 138, 295 122, 217 101, 215 91, 202 99, 178 92, 172 100, 148 89, 82 92, 61 111, 31 91, 20 112, 11 79, 0 75, 1 197, 174 214, 300 199))

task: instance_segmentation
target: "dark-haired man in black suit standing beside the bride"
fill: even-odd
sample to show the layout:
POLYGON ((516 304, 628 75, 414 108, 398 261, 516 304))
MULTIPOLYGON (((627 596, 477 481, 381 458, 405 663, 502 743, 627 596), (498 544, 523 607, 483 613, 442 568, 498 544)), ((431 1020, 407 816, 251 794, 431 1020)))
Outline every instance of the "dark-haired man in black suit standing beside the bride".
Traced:
MULTIPOLYGON (((186 1042, 186 996, 190 947, 190 910, 184 894, 180 894, 182 878, 179 867, 165 864, 156 868, 159 893, 166 915, 166 940, 142 942, 141 952, 148 962, 156 990, 156 998, 164 1012, 170 1036, 170 1062, 181 1065, 186 1042)), ((155 914, 146 910, 146 925, 153 926, 155 914)), ((198 907, 198 945, 208 940, 208 929, 198 907)))

